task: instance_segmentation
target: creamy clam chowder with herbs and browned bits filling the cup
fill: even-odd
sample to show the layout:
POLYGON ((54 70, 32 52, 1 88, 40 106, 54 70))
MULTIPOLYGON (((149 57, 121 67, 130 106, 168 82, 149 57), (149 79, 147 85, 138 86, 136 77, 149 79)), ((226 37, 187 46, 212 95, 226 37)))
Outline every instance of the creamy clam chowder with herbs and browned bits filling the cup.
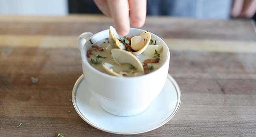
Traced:
MULTIPOLYGON (((131 37, 124 37, 120 38, 120 42, 124 43, 125 45, 125 53, 132 53, 135 52, 131 47, 131 37)), ((145 40, 144 40, 145 41, 145 40)), ((134 65, 132 65, 133 62, 130 63, 119 63, 117 60, 120 60, 120 58, 124 58, 124 62, 126 61, 127 56, 124 55, 121 57, 119 56, 117 59, 114 59, 115 55, 111 54, 113 46, 110 45, 109 39, 103 39, 100 41, 97 41, 96 43, 91 42, 91 48, 87 50, 87 60, 97 70, 114 75, 114 76, 125 76, 125 77, 132 77, 132 76, 141 76, 144 74, 148 74, 150 72, 153 72, 157 70, 161 65, 163 64, 163 59, 161 57, 162 52, 162 46, 157 45, 155 40, 150 40, 149 45, 145 49, 144 52, 141 54, 135 56, 134 54, 128 54, 131 57, 135 57, 138 59, 139 63, 143 66, 144 71, 139 71, 139 68, 136 68, 134 65), (151 45, 150 45, 151 44, 151 45), (107 66, 104 67, 104 65, 107 66)), ((121 49, 120 49, 121 50, 121 49)), ((130 59, 127 58, 127 61, 130 59)), ((129 62, 129 61, 128 61, 129 62)), ((140 65, 139 65, 140 66, 140 65)), ((142 67, 141 66, 141 67, 142 67)))

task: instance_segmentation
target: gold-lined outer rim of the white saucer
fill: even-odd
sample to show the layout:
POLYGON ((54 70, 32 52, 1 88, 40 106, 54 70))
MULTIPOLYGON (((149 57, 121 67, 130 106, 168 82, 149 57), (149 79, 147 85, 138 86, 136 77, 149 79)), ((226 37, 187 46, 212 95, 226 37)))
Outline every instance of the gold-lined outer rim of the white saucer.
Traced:
MULTIPOLYGON (((143 130, 143 131, 140 131, 140 132, 113 132, 113 131, 109 131, 109 130, 106 130, 104 128, 100 128, 99 126, 97 126, 96 124, 93 124, 91 121, 89 121, 89 119, 87 119, 83 114, 82 112, 79 110, 77 104, 75 103, 76 101, 76 98, 74 98, 75 94, 76 94, 76 91, 77 91, 77 88, 78 86, 80 85, 81 81, 83 80, 83 74, 81 76, 79 76, 79 78, 76 80, 75 84, 74 84, 74 87, 72 89, 72 103, 73 103, 73 106, 77 112, 77 114, 86 122, 88 123, 89 125, 93 126, 94 128, 97 128, 98 130, 102 130, 104 132, 108 132, 108 133, 114 133, 114 134, 119 134, 119 135, 134 135, 134 134, 139 134, 139 133, 145 133, 145 132, 149 132, 149 131, 152 131, 152 130, 155 130, 157 128, 160 128, 161 126, 163 126, 164 124, 166 124, 168 121, 170 121, 174 115, 178 112, 178 109, 180 108, 180 104, 181 104, 181 92, 180 92, 180 87, 178 86, 177 82, 173 79, 173 77, 169 74, 167 74, 167 79, 171 81, 171 83, 173 84, 175 90, 176 90, 176 94, 177 94, 177 103, 176 103, 176 106, 175 106, 175 109, 174 111, 169 115, 169 117, 167 117, 167 119, 165 119, 163 122, 161 122, 160 124, 152 127, 152 128, 149 128, 147 130, 143 130)), ((118 116, 117 116, 118 117, 118 116)))

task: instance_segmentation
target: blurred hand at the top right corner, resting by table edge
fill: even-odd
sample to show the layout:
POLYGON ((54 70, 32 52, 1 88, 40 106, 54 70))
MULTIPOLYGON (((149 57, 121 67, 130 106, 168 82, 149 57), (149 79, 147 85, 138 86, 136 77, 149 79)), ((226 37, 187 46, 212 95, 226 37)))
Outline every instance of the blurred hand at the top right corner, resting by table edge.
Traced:
POLYGON ((251 18, 256 12, 256 0, 234 0, 231 11, 233 17, 251 18))

